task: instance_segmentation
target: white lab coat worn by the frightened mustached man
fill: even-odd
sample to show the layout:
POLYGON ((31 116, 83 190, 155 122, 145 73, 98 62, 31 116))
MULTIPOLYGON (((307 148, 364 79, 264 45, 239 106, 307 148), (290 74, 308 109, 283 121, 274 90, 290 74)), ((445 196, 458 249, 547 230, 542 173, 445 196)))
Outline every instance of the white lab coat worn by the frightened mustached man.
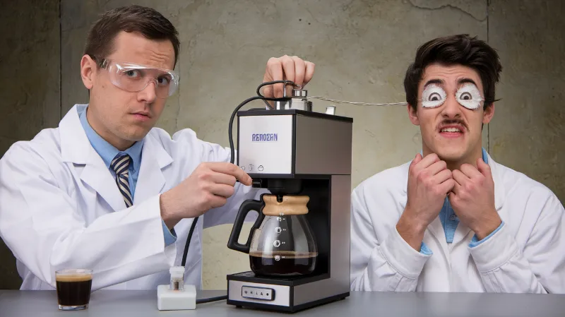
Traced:
POLYGON ((563 205, 542 184, 488 158, 504 226, 469 248, 463 222, 447 244, 439 217, 415 251, 396 224, 407 201, 408 167, 387 169, 352 192, 351 289, 429 292, 565 292, 563 205))

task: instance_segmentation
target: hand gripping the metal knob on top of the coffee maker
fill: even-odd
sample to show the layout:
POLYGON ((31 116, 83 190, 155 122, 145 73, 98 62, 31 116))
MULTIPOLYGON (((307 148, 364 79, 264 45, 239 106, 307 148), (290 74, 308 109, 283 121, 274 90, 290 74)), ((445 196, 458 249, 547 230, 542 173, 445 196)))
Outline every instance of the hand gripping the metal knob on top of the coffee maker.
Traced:
MULTIPOLYGON (((271 57, 267 61, 263 83, 273 80, 291 80, 304 87, 314 76, 314 63, 303 61, 298 56, 271 57)), ((263 88, 263 95, 269 98, 283 97, 282 83, 267 85, 263 88)))

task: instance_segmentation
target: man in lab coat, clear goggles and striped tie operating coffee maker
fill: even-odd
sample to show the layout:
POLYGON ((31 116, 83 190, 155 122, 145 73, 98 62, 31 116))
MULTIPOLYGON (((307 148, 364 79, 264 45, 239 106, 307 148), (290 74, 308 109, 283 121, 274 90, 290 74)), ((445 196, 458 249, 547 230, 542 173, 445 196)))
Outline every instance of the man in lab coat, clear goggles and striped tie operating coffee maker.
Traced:
MULTIPOLYGON (((166 285, 198 216, 185 282, 201 286, 203 227, 232 222, 258 192, 230 149, 154 127, 178 88, 178 54, 177 30, 157 11, 108 11, 81 59, 90 103, 2 157, 0 236, 21 289, 53 289, 55 271, 72 268, 92 269, 93 289, 166 285)), ((313 73, 314 64, 283 56, 268 61, 263 80, 306 84, 313 73)))

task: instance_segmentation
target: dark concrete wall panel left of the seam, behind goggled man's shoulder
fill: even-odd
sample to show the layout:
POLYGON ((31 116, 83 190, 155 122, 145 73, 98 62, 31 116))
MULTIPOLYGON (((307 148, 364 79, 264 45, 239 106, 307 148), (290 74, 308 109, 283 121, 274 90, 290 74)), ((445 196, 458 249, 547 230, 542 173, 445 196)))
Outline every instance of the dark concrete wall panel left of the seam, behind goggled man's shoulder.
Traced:
MULTIPOLYGON (((16 140, 29 140, 59 122, 59 1, 2 1, 0 29, 4 155, 16 140)), ((0 240, 0 289, 20 285, 16 260, 0 240)))

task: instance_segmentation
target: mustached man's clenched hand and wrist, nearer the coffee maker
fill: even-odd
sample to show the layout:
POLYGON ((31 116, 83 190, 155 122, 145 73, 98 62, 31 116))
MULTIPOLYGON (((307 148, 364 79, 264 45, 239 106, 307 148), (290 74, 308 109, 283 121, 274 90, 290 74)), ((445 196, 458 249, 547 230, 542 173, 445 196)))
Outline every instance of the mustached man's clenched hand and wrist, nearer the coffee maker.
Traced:
POLYGON ((420 251, 427 226, 439 215, 454 185, 446 162, 436 154, 422 159, 418 153, 412 160, 408 169, 408 202, 396 229, 416 251, 420 251))

